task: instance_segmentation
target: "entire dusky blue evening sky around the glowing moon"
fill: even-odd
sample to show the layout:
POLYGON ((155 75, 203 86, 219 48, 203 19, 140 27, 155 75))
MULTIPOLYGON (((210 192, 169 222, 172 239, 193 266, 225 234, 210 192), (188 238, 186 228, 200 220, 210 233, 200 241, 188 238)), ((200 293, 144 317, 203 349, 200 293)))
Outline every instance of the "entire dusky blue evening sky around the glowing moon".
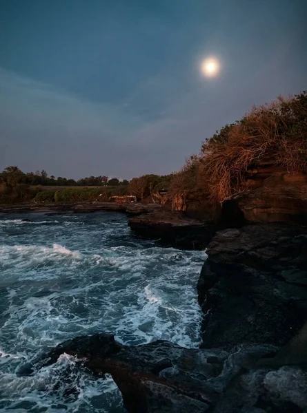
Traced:
POLYGON ((252 105, 307 89, 306 21, 307 0, 0 0, 0 170, 176 171, 252 105))

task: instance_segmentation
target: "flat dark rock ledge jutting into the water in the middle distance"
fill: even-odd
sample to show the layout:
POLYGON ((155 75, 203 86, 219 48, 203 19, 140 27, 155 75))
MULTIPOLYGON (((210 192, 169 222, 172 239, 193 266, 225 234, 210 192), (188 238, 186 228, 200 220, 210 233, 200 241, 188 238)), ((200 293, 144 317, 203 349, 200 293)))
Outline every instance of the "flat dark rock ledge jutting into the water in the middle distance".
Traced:
POLYGON ((159 211, 132 217, 128 225, 141 237, 183 249, 204 249, 216 231, 214 223, 188 218, 183 212, 159 211))

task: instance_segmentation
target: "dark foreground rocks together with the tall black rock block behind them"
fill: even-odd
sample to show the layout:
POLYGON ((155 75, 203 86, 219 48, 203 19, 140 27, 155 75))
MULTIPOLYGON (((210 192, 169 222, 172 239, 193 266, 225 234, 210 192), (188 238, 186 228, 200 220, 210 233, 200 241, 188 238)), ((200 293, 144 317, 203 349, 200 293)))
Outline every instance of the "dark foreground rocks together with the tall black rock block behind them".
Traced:
POLYGON ((95 376, 111 374, 132 413, 307 412, 307 229, 225 229, 207 253, 197 286, 201 348, 82 336, 32 370, 71 354, 95 376))

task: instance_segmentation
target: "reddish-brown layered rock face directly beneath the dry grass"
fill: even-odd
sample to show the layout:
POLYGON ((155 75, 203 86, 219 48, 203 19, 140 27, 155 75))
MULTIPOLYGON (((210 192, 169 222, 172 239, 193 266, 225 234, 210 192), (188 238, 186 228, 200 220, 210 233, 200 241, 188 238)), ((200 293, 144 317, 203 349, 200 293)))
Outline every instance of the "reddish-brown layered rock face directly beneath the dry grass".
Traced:
POLYGON ((307 221, 307 175, 290 173, 277 165, 276 160, 262 160, 257 168, 244 174, 244 187, 231 200, 212 206, 204 194, 190 199, 175 195, 172 200, 174 211, 185 211, 190 218, 204 222, 224 220, 228 224, 244 215, 249 222, 294 222, 307 221), (230 203, 232 210, 230 210, 230 203), (236 207, 235 207, 236 206, 236 207), (237 209, 237 211, 236 211, 237 209))

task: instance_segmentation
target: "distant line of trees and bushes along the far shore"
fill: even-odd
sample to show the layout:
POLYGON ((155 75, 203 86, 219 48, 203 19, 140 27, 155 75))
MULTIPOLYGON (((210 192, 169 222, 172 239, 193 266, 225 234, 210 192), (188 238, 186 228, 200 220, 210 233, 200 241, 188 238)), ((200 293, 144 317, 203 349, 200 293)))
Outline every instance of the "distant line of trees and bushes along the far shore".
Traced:
POLYGON ((135 195, 141 202, 163 203, 174 176, 174 173, 164 176, 148 174, 130 181, 90 176, 73 180, 48 176, 45 170, 25 173, 19 167, 6 167, 0 173, 0 203, 90 202, 97 197, 107 201, 113 195, 135 195))

